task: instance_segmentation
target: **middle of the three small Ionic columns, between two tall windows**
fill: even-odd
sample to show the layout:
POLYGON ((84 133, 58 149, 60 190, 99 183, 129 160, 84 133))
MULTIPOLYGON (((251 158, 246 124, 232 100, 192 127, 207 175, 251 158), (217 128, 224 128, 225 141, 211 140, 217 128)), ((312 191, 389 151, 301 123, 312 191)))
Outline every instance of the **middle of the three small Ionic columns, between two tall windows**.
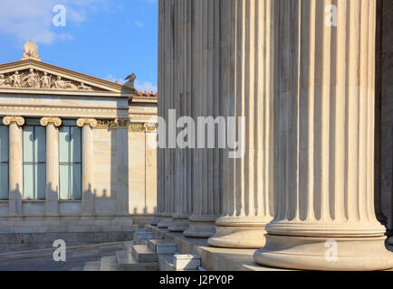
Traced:
POLYGON ((46 126, 46 192, 45 214, 59 215, 59 117, 41 118, 41 126, 46 126))

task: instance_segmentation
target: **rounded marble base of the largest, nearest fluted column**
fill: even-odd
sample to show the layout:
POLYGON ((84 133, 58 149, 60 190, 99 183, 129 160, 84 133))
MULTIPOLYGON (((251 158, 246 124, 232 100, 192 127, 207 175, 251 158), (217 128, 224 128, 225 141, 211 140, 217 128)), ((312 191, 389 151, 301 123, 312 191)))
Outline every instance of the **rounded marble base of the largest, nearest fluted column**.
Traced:
POLYGON ((263 266, 321 271, 371 271, 393 268, 385 237, 313 238, 265 235, 254 253, 263 266))

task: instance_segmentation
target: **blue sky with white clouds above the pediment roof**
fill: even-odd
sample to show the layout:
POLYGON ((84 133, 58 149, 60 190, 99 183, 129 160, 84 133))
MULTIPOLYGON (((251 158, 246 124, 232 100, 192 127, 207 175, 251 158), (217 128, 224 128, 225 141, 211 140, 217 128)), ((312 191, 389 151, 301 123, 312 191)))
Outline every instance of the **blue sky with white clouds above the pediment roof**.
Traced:
POLYGON ((135 72, 137 89, 156 91, 157 35, 158 0, 1 0, 0 63, 32 40, 44 62, 119 82, 135 72), (53 24, 56 5, 65 26, 53 24))

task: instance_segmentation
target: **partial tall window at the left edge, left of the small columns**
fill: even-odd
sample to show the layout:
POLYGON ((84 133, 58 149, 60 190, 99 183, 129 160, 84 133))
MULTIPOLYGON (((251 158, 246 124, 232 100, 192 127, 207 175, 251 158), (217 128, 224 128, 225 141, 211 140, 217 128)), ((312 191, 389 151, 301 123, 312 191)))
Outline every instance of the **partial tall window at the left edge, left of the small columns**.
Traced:
MULTIPOLYGON (((2 121, 1 118, 0 121, 2 121)), ((0 126, 0 200, 9 199, 9 190, 8 190, 9 135, 8 134, 9 134, 8 126, 0 126)))

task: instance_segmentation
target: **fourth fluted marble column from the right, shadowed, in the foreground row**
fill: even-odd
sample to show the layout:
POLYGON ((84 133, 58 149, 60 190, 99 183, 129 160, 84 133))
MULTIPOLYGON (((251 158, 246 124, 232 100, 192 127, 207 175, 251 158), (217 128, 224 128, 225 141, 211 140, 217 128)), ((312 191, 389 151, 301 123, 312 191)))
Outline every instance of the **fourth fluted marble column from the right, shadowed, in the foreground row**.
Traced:
MULTIPOLYGON (((177 27, 175 35, 175 73, 177 87, 175 88, 174 105, 177 117, 190 116, 189 102, 191 101, 191 83, 193 81, 191 62, 193 6, 195 6, 195 3, 192 0, 177 1, 175 5, 177 27)), ((182 135, 182 132, 177 131, 177 134, 182 135)), ((184 138, 181 140, 185 144, 180 144, 181 146, 177 144, 175 149, 175 213, 168 226, 170 231, 176 232, 183 232, 188 228, 188 217, 192 212, 193 189, 189 185, 190 178, 188 177, 192 173, 190 165, 192 156, 189 154, 190 148, 187 145, 187 140, 184 138)))

